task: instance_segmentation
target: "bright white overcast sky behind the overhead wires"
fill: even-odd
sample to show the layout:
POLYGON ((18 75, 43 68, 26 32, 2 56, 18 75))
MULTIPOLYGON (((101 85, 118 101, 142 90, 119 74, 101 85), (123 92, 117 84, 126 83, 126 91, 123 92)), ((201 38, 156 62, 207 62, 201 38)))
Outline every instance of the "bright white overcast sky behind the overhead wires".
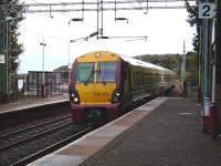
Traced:
MULTIPOLYGON (((64 0, 63 0, 64 1, 64 0)), ((69 1, 69 0, 65 0, 69 1)), ((43 0, 25 0, 25 3, 45 2, 43 0)), ((48 0, 46 2, 59 2, 48 0)), ((146 37, 147 40, 128 39, 99 39, 91 38, 88 41, 70 40, 86 37, 95 32, 97 27, 96 12, 85 12, 83 22, 71 22, 72 18, 81 18, 81 12, 65 13, 25 13, 20 23, 19 42, 23 43, 24 52, 19 56, 19 73, 28 71, 42 71, 43 46, 44 70, 54 69, 72 63, 78 55, 90 51, 105 50, 129 56, 140 54, 183 53, 192 51, 192 38, 196 28, 187 22, 188 13, 185 9, 117 11, 117 17, 128 19, 115 21, 114 11, 104 12, 104 35, 108 37, 146 37)), ((101 22, 99 22, 101 23, 101 22)))

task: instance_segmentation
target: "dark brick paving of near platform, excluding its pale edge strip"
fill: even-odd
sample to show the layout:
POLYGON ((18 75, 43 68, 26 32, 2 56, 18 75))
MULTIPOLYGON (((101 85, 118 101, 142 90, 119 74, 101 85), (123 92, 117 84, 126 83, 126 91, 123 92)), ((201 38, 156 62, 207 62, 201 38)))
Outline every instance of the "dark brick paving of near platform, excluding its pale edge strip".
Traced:
POLYGON ((201 106, 171 97, 81 166, 220 166, 221 142, 202 134, 201 106))

